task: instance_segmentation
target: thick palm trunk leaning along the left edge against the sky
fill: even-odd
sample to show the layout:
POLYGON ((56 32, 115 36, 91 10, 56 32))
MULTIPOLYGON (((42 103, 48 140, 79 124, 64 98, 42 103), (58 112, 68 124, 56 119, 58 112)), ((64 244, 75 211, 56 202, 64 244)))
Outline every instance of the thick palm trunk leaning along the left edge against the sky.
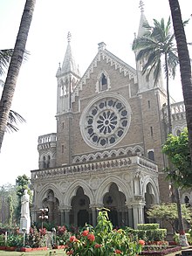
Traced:
POLYGON ((23 16, 21 18, 21 23, 17 33, 16 44, 10 59, 10 66, 3 86, 3 93, 0 101, 0 150, 2 148, 3 136, 9 118, 15 87, 17 84, 18 73, 24 59, 24 50, 31 26, 35 3, 36 0, 26 0, 25 2, 23 16))

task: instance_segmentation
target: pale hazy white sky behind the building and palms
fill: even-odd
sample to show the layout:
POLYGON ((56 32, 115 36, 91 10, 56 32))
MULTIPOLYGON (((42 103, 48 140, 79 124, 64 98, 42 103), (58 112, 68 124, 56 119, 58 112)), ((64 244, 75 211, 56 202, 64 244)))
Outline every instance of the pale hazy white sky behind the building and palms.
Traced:
MULTIPOLYGON (((37 0, 24 61, 17 80, 11 109, 24 116, 17 133, 6 133, 0 153, 0 185, 15 184, 19 175, 31 176, 38 169, 38 136, 56 132, 56 100, 58 63, 63 62, 67 33, 72 33, 72 53, 83 75, 98 52, 98 44, 135 67, 131 45, 138 31, 140 0, 37 0)), ((168 20, 168 0, 143 0, 149 24, 153 18, 168 20)), ((0 0, 0 49, 13 48, 24 0, 0 0)), ((191 0, 180 0, 182 18, 192 12, 191 0)), ((192 42, 192 19, 186 27, 188 42, 192 42)), ((191 46, 192 48, 192 46, 191 46)), ((192 58, 192 50, 189 49, 192 58)), ((0 78, 5 80, 4 77, 0 78)), ((2 88, 0 88, 1 93, 2 88)), ((170 93, 182 100, 180 74, 171 83, 170 93)))

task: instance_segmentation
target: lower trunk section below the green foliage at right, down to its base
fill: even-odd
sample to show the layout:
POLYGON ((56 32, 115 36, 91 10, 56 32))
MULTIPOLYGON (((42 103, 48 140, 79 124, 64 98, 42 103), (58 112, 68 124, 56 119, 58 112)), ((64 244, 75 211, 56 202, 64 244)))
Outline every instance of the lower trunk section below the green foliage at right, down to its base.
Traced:
POLYGON ((180 190, 178 188, 175 189, 175 197, 176 197, 178 222, 179 222, 179 243, 180 243, 180 246, 189 246, 188 239, 184 231, 184 225, 183 225, 183 219, 182 219, 182 204, 180 199, 180 190))

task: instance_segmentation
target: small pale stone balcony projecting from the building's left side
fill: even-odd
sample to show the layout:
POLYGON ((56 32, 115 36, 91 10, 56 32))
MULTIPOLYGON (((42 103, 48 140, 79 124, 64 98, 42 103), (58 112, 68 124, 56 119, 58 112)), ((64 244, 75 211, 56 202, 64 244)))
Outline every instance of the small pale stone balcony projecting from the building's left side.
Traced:
POLYGON ((55 148, 57 144, 57 134, 41 135, 38 137, 38 150, 55 148))

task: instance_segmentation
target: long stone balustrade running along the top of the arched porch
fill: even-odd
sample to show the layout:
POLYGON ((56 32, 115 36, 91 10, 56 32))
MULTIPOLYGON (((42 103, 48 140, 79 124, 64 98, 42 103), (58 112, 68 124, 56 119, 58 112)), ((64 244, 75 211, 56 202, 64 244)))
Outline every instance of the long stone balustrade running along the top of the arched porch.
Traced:
POLYGON ((72 165, 65 165, 58 168, 51 168, 46 170, 31 170, 31 180, 35 181, 38 179, 52 178, 53 176, 68 176, 74 175, 75 173, 86 173, 95 171, 107 171, 120 169, 120 168, 131 168, 139 166, 153 172, 157 175, 158 167, 157 165, 143 156, 131 156, 131 157, 121 157, 119 159, 99 161, 97 163, 79 163, 72 165))

